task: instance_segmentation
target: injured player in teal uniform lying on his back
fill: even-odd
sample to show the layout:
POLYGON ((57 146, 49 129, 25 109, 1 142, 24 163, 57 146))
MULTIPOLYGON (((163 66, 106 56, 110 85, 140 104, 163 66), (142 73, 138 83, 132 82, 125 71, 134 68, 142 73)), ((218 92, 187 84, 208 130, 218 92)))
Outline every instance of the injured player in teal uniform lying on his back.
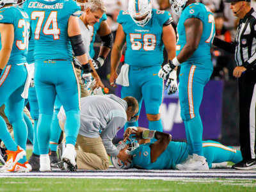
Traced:
MULTIPOLYGON (((124 141, 136 138, 141 144, 132 148, 130 152, 131 163, 120 161, 117 157, 111 157, 115 168, 143 168, 147 170, 176 169, 176 165, 188 158, 188 145, 185 142, 171 141, 172 136, 164 132, 150 131, 142 127, 129 127, 125 131, 124 141), (130 134, 134 134, 133 136, 130 134), (149 139, 156 138, 155 143, 147 143, 149 139)), ((120 142, 118 148, 125 148, 124 142, 120 142)), ((209 168, 227 167, 227 161, 237 163, 242 161, 241 151, 227 147, 217 141, 203 141, 204 156, 209 168)), ((191 160, 193 161, 193 160, 191 160)), ((193 170, 193 168, 191 169, 193 170)))

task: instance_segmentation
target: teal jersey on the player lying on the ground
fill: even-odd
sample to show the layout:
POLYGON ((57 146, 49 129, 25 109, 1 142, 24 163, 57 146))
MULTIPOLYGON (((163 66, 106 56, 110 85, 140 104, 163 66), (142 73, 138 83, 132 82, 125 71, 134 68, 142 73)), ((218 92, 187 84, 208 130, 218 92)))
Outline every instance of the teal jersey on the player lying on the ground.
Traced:
POLYGON ((164 150, 154 163, 151 163, 151 144, 152 143, 146 143, 140 145, 140 147, 131 152, 134 167, 147 170, 174 169, 176 164, 184 161, 188 157, 187 143, 170 141, 166 150, 164 150))

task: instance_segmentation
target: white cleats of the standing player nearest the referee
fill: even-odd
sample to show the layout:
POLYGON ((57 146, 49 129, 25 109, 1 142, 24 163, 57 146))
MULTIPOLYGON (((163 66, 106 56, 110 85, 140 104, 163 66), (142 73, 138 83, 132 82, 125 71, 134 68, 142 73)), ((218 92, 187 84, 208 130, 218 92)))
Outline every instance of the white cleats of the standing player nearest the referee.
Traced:
POLYGON ((193 154, 186 161, 176 165, 177 170, 209 170, 208 163, 204 156, 193 154))

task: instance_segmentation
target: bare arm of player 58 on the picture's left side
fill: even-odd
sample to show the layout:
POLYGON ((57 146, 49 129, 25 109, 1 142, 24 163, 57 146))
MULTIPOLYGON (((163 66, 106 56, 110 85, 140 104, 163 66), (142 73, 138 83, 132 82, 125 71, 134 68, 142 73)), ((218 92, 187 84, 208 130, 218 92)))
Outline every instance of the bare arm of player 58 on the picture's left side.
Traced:
POLYGON ((125 33, 122 25, 118 24, 115 43, 113 45, 112 52, 111 52, 111 74, 109 78, 109 82, 111 86, 115 86, 115 80, 117 78, 116 69, 119 65, 124 43, 125 43, 125 33))

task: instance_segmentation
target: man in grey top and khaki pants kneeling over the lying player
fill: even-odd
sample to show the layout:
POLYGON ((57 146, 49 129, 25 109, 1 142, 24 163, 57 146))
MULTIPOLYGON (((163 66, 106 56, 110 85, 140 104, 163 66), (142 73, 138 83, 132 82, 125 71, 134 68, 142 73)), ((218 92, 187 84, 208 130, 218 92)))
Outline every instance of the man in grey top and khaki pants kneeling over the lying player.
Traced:
MULTIPOLYGON (((128 154, 112 143, 119 129, 138 113, 138 101, 134 97, 121 99, 115 95, 93 95, 81 99, 81 126, 77 136, 76 164, 79 170, 106 170, 108 154, 126 160, 128 154)), ((58 118, 63 129, 66 118, 60 109, 58 118)), ((65 167, 69 171, 74 168, 65 167)))

